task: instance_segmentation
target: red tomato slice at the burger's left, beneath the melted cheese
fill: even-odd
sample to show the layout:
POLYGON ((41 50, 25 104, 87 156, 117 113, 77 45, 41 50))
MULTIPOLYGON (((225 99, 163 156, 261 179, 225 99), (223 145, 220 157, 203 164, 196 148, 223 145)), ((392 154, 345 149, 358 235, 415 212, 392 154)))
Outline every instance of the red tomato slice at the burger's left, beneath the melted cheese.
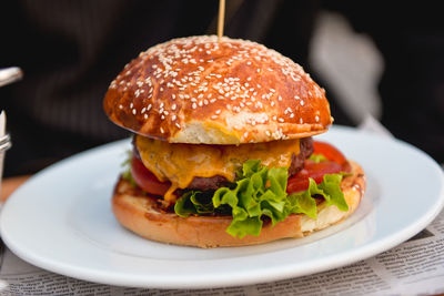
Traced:
POLYGON ((134 156, 131 160, 131 174, 139 187, 154 195, 164 195, 171 186, 170 182, 159 181, 159 178, 143 165, 142 161, 134 156))

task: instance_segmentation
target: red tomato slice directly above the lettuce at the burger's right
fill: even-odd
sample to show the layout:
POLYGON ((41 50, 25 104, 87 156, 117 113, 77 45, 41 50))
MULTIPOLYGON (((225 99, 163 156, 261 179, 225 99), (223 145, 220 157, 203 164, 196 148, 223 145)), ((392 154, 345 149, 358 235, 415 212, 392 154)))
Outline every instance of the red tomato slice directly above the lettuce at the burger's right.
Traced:
POLYGON ((342 170, 342 165, 336 162, 320 162, 305 161, 304 169, 299 173, 289 177, 286 186, 287 193, 305 191, 309 188, 309 177, 313 178, 316 184, 321 183, 325 174, 337 174, 342 170))

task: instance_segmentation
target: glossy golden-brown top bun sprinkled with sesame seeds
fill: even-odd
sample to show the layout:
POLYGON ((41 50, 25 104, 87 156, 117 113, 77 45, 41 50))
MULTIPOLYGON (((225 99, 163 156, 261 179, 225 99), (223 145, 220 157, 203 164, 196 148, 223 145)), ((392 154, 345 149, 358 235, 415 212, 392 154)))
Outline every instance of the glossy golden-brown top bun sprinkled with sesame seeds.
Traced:
POLYGON ((111 82, 103 106, 118 125, 171 143, 299 139, 332 123, 325 92, 274 50, 189 37, 150 48, 111 82))

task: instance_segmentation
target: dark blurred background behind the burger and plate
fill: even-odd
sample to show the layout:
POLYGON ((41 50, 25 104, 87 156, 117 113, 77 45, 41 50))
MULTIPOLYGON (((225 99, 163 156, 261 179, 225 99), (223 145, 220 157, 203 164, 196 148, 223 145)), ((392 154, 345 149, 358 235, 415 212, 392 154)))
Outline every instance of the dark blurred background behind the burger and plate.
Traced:
MULTIPOLYGON (((444 22, 438 1, 226 0, 224 34, 304 67, 327 91, 336 124, 366 114, 444 162, 444 22), (436 6, 436 7, 435 7, 436 6), (347 86, 350 85, 350 86, 347 86)), ((34 173, 128 132, 102 99, 123 65, 159 42, 216 32, 219 0, 39 0, 0 3, 0 89, 13 147, 4 175, 34 173)))

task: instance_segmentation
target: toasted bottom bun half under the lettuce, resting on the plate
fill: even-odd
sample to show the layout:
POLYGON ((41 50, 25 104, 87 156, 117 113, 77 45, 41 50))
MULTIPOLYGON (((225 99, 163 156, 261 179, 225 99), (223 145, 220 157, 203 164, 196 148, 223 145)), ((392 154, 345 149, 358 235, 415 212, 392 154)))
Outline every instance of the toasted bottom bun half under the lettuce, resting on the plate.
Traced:
POLYGON ((245 246, 263 244, 286 237, 303 237, 323 229, 350 216, 357 207, 365 191, 365 175, 362 167, 350 161, 352 175, 343 178, 341 188, 349 205, 347 212, 336 206, 317 206, 317 218, 304 214, 292 214, 272 226, 268 223, 259 236, 233 237, 225 232, 231 223, 229 216, 180 217, 161 210, 157 198, 147 196, 122 178, 115 186, 112 210, 117 220, 128 229, 145 238, 168 244, 198 247, 245 246))

